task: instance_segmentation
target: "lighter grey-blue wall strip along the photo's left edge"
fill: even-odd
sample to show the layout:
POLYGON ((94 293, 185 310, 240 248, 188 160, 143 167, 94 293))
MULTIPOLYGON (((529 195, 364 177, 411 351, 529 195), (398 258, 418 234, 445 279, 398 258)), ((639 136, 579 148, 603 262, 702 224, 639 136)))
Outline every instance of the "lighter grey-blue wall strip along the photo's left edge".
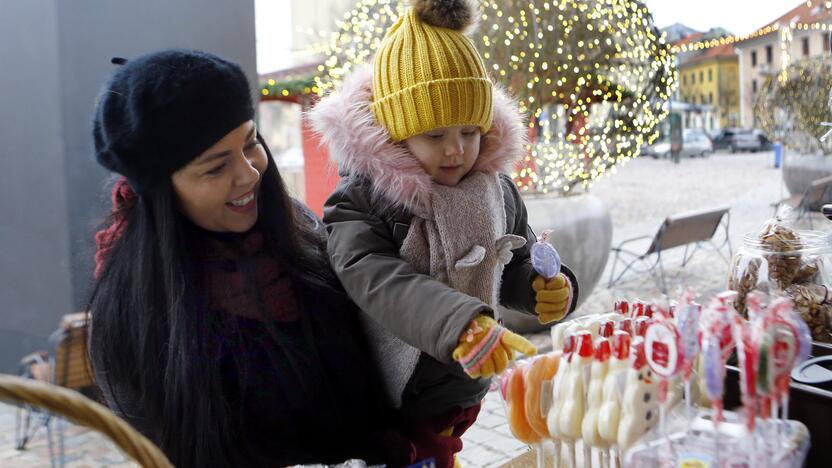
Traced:
POLYGON ((72 310, 54 0, 0 0, 0 371, 72 310))

